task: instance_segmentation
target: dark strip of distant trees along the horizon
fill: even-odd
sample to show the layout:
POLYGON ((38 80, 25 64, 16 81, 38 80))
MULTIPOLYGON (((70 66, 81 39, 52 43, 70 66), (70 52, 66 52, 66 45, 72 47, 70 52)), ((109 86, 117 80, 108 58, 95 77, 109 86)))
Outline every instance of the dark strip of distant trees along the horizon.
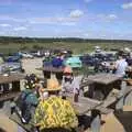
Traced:
POLYGON ((101 40, 101 38, 79 38, 79 37, 14 37, 0 36, 0 44, 11 43, 53 43, 53 42, 73 42, 73 43, 132 43, 130 40, 101 40))

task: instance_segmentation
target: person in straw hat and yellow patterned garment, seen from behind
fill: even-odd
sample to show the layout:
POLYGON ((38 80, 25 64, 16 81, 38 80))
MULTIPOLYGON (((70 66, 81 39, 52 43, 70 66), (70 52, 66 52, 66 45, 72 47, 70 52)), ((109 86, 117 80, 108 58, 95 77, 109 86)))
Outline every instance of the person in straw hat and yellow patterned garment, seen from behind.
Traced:
POLYGON ((66 132, 63 130, 70 131, 78 127, 78 119, 69 101, 58 96, 62 88, 56 81, 51 79, 47 82, 48 87, 43 89, 43 100, 35 110, 34 125, 41 132, 66 132))

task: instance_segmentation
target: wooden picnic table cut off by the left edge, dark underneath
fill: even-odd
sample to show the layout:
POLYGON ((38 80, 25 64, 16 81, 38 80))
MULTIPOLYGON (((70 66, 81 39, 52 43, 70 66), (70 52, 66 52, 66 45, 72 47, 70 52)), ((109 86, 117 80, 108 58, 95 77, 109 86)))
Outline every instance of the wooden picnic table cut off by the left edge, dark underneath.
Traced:
POLYGON ((12 99, 20 94, 20 80, 24 79, 23 74, 11 73, 0 75, 0 102, 12 99))

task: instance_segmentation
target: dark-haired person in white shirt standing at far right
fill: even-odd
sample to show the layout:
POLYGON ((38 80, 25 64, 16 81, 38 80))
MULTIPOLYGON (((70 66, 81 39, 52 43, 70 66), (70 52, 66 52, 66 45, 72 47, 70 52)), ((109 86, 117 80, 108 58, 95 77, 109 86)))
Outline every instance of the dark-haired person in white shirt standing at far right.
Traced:
POLYGON ((116 62, 114 68, 116 68, 116 75, 125 76, 125 69, 128 67, 128 63, 124 58, 124 56, 119 56, 119 59, 116 62))

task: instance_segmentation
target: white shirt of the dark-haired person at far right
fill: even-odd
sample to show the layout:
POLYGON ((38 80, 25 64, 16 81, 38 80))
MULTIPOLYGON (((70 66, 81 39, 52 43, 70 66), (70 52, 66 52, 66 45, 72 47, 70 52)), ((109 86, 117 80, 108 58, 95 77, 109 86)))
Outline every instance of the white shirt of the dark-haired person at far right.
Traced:
POLYGON ((125 62, 125 59, 117 61, 116 67, 117 67, 116 74, 124 76, 125 75, 125 69, 128 67, 128 63, 125 62))

